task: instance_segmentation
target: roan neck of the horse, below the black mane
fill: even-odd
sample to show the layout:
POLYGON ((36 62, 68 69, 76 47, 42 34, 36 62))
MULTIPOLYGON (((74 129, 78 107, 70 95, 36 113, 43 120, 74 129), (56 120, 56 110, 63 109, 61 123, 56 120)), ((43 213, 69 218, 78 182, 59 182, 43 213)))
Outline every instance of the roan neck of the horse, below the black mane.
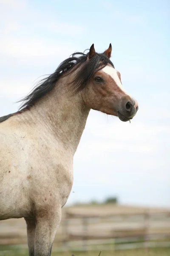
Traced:
POLYGON ((61 79, 61 81, 59 80, 59 84, 35 104, 34 118, 39 119, 42 124, 44 123, 44 128, 47 130, 49 128, 54 137, 71 148, 74 154, 90 109, 85 106, 81 93, 71 96, 68 87, 63 88, 62 85, 67 81, 65 79, 61 79))

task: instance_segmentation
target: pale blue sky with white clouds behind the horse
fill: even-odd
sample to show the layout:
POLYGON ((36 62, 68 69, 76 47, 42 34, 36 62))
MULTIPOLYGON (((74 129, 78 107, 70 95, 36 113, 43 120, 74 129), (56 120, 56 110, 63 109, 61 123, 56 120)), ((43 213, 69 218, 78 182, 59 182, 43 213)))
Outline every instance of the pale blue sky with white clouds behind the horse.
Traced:
POLYGON ((111 61, 139 111, 129 123, 91 110, 68 205, 117 196, 170 207, 169 0, 0 0, 0 116, 93 43, 97 52, 112 44, 111 61))

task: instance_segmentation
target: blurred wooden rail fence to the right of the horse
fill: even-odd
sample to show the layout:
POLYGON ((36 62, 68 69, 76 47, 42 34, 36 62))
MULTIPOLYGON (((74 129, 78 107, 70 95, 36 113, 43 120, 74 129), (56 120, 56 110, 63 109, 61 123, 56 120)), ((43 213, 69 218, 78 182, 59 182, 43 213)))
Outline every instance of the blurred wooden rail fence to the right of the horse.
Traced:
POLYGON ((63 250, 170 247, 170 211, 147 209, 138 212, 91 214, 89 212, 74 213, 68 210, 65 213, 63 233, 65 234, 62 240, 63 250), (75 230, 74 227, 77 226, 78 221, 79 229, 75 230), (95 230, 99 226, 101 228, 95 230))

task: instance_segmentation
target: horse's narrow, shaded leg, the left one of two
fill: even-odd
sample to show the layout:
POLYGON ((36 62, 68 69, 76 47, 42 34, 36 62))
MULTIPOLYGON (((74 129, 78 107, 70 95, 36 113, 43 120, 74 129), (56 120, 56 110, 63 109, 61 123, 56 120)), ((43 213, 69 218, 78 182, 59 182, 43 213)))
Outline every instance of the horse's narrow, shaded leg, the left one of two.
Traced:
POLYGON ((34 244, 35 244, 35 220, 25 218, 27 224, 27 240, 28 240, 28 250, 29 256, 34 256, 34 244))

